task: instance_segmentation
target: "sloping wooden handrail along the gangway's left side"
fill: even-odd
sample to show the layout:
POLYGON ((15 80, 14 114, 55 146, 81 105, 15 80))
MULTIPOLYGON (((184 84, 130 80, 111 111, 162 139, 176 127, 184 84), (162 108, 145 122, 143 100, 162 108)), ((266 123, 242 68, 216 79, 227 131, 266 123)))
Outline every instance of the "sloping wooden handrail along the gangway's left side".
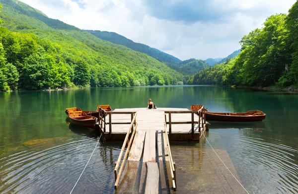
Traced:
POLYGON ((122 145, 122 148, 121 148, 121 151, 120 151, 118 160, 115 162, 115 169, 114 169, 114 173, 115 173, 115 189, 117 189, 117 187, 118 187, 118 184, 119 184, 119 181, 120 181, 120 178, 121 178, 121 173, 123 171, 126 158, 127 158, 128 154, 129 154, 129 149, 131 147, 131 144, 133 142, 134 136, 136 134, 136 130, 137 130, 137 127, 138 127, 138 124, 136 124, 136 117, 137 117, 137 113, 135 113, 134 114, 134 117, 132 118, 132 122, 131 122, 131 125, 130 125, 127 133, 126 133, 126 136, 125 136, 125 139, 124 139, 124 142, 123 142, 123 145, 122 145), (135 128, 134 128, 134 125, 135 125, 135 128), (131 132, 131 137, 129 139, 130 132, 131 132), (123 155, 123 152, 124 152, 124 149, 125 149, 125 146, 126 146, 127 142, 128 142, 128 145, 126 147, 125 155, 124 155, 124 157, 122 159, 122 155, 123 155), (118 172, 118 168, 119 168, 119 165, 120 165, 121 160, 122 160, 122 163, 121 163, 121 166, 120 166, 120 169, 119 169, 119 172, 118 172))

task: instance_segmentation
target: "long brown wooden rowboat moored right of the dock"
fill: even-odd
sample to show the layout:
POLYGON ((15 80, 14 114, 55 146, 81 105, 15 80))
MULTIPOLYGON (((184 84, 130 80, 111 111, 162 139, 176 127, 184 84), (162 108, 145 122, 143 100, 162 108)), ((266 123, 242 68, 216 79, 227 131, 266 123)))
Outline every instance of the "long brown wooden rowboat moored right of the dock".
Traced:
MULTIPOLYGON (((192 111, 198 111, 202 105, 192 105, 192 111)), ((226 121, 226 122, 253 122, 263 121, 266 114, 262 111, 247 111, 246 113, 213 113, 205 109, 205 117, 207 121, 226 121)))

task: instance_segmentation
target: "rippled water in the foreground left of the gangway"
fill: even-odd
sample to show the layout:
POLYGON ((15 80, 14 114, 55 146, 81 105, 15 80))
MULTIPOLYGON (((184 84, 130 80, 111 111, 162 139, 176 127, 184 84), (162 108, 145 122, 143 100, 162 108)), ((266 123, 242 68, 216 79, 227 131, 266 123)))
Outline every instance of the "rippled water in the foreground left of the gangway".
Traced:
MULTIPOLYGON (((96 138, 82 137, 45 150, 28 149, 1 158, 0 193, 70 193, 96 143, 96 138)), ((98 144, 75 193, 114 192, 113 160, 120 146, 98 144)))

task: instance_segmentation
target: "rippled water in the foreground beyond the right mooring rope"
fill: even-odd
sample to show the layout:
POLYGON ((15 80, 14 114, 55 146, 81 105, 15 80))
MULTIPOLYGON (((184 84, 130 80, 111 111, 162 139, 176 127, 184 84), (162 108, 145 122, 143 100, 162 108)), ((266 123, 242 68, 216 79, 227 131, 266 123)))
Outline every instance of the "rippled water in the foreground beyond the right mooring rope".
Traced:
POLYGON ((227 150, 250 194, 298 193, 298 150, 248 128, 210 129, 208 140, 227 150))

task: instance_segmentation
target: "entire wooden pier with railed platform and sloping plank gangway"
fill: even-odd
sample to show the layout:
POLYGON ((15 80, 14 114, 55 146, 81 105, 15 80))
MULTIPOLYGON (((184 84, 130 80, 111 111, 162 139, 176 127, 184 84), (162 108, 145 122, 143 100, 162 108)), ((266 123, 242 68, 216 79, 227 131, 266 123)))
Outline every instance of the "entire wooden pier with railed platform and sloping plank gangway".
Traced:
POLYGON ((107 140, 124 140, 115 162, 117 193, 175 191, 176 165, 169 141, 199 141, 208 130, 204 107, 199 111, 133 108, 105 112, 100 109, 98 119, 95 128, 107 140))

